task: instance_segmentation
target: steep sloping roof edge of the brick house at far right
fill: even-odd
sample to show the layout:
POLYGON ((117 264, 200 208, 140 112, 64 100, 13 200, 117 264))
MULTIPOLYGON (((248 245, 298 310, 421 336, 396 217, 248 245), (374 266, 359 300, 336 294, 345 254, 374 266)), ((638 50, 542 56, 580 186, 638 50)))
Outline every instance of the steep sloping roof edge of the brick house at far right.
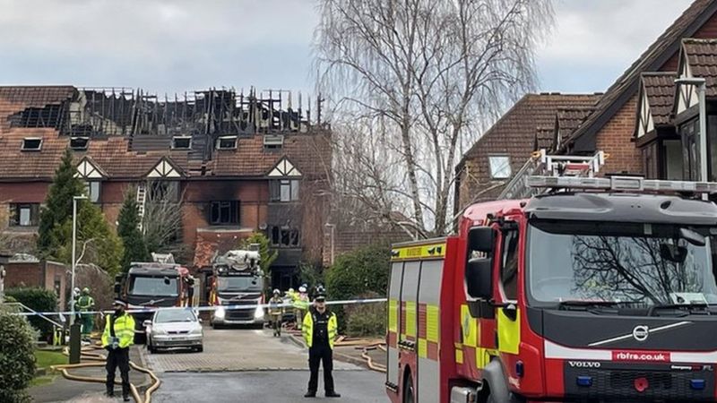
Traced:
POLYGON ((609 87, 595 111, 573 133, 570 141, 574 142, 575 150, 594 150, 595 135, 635 94, 640 73, 659 70, 678 52, 680 39, 692 36, 716 10, 717 2, 713 0, 695 0, 609 87))

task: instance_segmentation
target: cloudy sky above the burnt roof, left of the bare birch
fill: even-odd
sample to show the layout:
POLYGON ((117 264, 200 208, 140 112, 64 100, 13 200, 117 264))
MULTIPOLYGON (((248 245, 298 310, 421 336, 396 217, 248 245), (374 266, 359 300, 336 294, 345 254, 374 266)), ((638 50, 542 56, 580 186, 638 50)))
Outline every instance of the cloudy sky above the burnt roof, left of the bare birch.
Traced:
POLYGON ((310 88, 312 0, 0 0, 0 9, 5 84, 310 88))

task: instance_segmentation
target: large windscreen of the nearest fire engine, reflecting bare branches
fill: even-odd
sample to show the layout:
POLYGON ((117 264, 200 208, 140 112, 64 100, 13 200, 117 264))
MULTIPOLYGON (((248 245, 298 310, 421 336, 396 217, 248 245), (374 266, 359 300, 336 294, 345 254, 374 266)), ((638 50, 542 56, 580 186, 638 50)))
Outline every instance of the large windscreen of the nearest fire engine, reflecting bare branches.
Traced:
POLYGON ((531 220, 531 304, 717 304, 717 228, 531 220))

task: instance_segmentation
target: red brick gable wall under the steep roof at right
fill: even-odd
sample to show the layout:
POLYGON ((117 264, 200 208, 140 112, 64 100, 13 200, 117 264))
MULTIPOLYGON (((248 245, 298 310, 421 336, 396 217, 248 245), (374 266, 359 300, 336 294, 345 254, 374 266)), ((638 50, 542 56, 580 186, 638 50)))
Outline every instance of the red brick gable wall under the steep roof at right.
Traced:
POLYGON ((637 96, 628 100, 618 113, 602 127, 597 136, 597 150, 609 154, 602 169, 603 174, 626 171, 642 173, 643 163, 640 151, 632 142, 635 133, 635 108, 637 96))

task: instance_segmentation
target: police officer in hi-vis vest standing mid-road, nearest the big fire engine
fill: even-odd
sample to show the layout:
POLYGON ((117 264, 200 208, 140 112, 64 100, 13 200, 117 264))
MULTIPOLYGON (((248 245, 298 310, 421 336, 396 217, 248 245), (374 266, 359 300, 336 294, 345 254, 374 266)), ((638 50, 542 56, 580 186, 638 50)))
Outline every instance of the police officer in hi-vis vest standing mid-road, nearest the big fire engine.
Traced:
POLYGON ((324 366, 324 391, 327 398, 341 398, 333 387, 333 340, 339 330, 336 314, 326 309, 326 296, 316 295, 314 306, 304 317, 304 341, 308 346, 308 380, 305 398, 315 398, 318 389, 319 364, 324 366))

